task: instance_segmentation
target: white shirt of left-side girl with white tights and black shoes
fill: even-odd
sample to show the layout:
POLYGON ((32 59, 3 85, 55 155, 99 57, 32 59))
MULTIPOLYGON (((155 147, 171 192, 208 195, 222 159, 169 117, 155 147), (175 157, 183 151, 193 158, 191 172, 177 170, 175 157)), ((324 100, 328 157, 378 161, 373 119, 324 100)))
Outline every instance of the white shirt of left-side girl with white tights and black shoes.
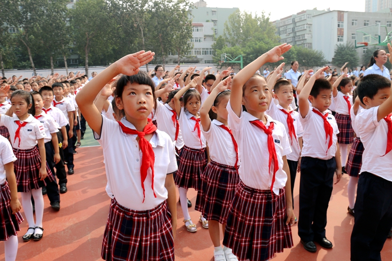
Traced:
POLYGON ((37 145, 37 140, 46 137, 44 125, 30 114, 27 119, 21 121, 21 123, 27 122, 27 124, 19 132, 21 137, 21 144, 19 145, 19 138, 14 142, 15 132, 19 127, 15 121, 21 121, 15 114, 13 117, 2 115, 0 118, 0 126, 7 127, 9 131, 12 147, 16 149, 32 149, 37 145))

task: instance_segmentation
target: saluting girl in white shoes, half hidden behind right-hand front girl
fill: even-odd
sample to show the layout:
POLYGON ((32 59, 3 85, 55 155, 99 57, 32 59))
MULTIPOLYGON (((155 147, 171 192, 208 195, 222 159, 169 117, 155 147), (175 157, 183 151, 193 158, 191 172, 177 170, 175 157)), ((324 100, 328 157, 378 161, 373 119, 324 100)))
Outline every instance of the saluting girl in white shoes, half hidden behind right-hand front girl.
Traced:
POLYGON ((200 109, 201 131, 209 144, 211 157, 203 173, 205 203, 202 214, 209 222, 208 230, 215 247, 215 261, 237 260, 230 248, 222 249, 219 229, 221 223, 224 233, 229 207, 240 181, 238 145, 227 127, 226 106, 230 98, 227 87, 230 81, 231 76, 221 81, 200 109))

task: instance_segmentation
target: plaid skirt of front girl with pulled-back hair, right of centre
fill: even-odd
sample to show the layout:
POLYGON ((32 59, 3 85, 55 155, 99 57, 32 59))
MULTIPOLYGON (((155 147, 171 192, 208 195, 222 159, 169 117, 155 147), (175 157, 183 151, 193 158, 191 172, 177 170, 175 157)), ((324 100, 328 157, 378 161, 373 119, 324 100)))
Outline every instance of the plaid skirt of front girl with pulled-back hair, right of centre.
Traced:
POLYGON ((283 248, 293 247, 286 225, 285 189, 272 197, 270 190, 255 190, 240 181, 227 217, 223 245, 238 260, 265 261, 283 248))

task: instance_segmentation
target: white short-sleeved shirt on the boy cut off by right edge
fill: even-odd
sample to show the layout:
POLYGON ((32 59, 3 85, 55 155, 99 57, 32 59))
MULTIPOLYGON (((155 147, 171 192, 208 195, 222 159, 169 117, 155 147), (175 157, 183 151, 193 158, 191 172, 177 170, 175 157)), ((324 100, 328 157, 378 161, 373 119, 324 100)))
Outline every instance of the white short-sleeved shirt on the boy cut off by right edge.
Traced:
POLYGON ((384 119, 377 121, 379 106, 361 110, 357 114, 357 131, 365 150, 362 155, 362 172, 392 181, 392 151, 385 154, 388 141, 388 124, 384 119))

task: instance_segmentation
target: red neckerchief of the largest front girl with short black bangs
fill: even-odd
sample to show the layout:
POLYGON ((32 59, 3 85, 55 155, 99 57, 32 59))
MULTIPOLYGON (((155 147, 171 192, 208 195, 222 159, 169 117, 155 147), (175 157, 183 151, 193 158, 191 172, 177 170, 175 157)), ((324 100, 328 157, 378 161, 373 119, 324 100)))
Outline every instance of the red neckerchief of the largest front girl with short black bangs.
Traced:
POLYGON ((143 189, 143 203, 146 198, 146 193, 145 193, 145 188, 144 188, 144 181, 147 178, 147 170, 149 167, 151 167, 151 189, 152 192, 155 195, 154 191, 154 163, 155 163, 155 154, 154 151, 152 150, 152 145, 150 142, 147 141, 145 138, 146 134, 151 134, 156 131, 156 126, 152 124, 151 119, 148 119, 148 123, 146 127, 144 127, 143 131, 137 131, 134 129, 130 129, 126 127, 121 121, 118 121, 120 124, 121 129, 123 130, 124 133, 126 134, 136 134, 139 136, 139 147, 140 150, 142 151, 142 166, 140 167, 140 176, 142 179, 142 189, 143 189))

